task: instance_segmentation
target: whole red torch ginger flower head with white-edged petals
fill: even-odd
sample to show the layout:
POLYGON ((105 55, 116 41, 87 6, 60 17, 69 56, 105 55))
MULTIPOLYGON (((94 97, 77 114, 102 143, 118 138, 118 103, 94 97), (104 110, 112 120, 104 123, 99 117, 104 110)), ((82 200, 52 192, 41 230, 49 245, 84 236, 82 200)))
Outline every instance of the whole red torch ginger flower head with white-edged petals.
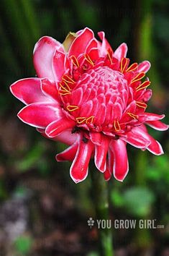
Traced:
POLYGON ((88 28, 70 33, 63 44, 41 38, 34 50, 38 78, 11 85, 14 96, 27 105, 19 119, 70 145, 56 159, 73 161, 74 182, 86 179, 91 156, 106 180, 113 173, 122 181, 128 172, 127 143, 161 155, 160 143, 145 124, 168 129, 159 121, 164 115, 145 112, 152 95, 144 79, 150 63, 130 64, 125 43, 113 51, 104 32, 98 34, 101 42, 88 28))

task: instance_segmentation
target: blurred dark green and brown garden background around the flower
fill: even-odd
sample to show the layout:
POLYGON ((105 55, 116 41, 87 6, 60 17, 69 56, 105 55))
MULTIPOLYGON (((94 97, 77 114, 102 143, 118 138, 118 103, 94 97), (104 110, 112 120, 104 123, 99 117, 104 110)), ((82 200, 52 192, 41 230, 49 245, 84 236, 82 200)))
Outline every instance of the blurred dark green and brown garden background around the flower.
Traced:
MULTIPOLYGON (((0 255, 96 256, 90 176, 74 184, 70 163, 57 163, 64 145, 45 140, 17 119, 23 104, 9 85, 35 77, 32 51, 50 35, 63 42, 69 31, 104 30, 112 48, 126 42, 132 61, 150 60, 153 90, 148 111, 168 114, 169 2, 89 0, 1 0, 0 255)), ((165 123, 169 123, 168 116, 165 123)), ((109 181, 111 219, 156 219, 162 229, 116 229, 116 256, 169 255, 169 140, 150 129, 165 155, 128 146, 129 174, 109 181)))

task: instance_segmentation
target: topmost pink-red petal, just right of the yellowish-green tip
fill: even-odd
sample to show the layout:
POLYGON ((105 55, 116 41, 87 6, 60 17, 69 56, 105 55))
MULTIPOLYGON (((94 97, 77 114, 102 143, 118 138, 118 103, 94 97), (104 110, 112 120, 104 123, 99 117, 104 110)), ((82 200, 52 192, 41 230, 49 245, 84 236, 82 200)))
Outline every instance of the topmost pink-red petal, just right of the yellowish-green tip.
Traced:
POLYGON ((91 39, 93 39, 93 31, 86 27, 78 37, 73 40, 72 45, 68 51, 68 56, 76 56, 78 57, 80 54, 84 54, 86 47, 91 39))

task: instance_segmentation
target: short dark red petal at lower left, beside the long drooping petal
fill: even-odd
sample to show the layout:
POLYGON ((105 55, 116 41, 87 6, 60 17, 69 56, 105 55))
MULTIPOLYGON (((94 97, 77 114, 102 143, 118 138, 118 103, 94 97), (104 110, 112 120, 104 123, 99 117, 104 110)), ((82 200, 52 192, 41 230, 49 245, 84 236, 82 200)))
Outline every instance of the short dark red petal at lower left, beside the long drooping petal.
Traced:
POLYGON ((58 155, 56 155, 56 160, 58 162, 62 162, 62 161, 71 162, 75 158, 77 150, 78 150, 78 143, 75 142, 69 148, 66 148, 66 150, 64 150, 62 153, 59 153, 58 155))

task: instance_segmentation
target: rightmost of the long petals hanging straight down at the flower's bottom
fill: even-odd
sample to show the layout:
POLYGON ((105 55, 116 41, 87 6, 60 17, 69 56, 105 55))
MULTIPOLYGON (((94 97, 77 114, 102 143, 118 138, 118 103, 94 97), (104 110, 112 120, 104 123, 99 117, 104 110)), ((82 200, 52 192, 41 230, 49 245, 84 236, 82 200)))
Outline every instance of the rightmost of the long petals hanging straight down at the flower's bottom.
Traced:
POLYGON ((122 182, 129 171, 126 142, 111 140, 111 150, 114 154, 114 177, 122 182))

